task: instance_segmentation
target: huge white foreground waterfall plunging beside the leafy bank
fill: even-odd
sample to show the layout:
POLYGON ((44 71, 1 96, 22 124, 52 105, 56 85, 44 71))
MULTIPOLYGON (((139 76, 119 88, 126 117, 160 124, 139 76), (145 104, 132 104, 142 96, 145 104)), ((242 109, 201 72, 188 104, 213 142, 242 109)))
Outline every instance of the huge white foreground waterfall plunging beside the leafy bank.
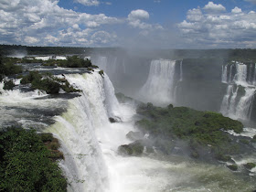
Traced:
POLYGON ((112 83, 97 72, 65 76, 81 96, 69 101, 68 112, 57 116, 48 132, 61 141, 65 162, 60 165, 71 184, 69 191, 104 191, 108 174, 96 133, 110 124, 109 117, 118 115, 112 83))

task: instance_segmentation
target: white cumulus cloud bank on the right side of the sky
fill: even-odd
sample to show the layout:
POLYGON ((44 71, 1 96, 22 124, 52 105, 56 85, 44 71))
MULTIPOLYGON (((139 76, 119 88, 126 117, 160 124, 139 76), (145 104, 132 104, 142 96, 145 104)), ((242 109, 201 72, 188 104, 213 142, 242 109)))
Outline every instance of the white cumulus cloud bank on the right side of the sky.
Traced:
MULTIPOLYGON (((243 48, 256 45, 256 13, 243 12, 235 7, 230 13, 203 13, 212 5, 187 11, 187 20, 179 23, 182 37, 187 43, 208 48, 243 48), (248 44, 248 42, 251 42, 248 44)), ((217 6, 214 5, 216 8, 217 6)), ((213 6, 211 6, 213 7, 213 6)), ((225 9, 220 9, 224 11, 225 9)))

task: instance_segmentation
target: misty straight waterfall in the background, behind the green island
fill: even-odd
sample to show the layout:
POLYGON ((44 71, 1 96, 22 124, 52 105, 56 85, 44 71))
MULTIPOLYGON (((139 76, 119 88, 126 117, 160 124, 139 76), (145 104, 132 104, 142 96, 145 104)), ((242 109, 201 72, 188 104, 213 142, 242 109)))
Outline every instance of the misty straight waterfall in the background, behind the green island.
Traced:
POLYGON ((152 60, 149 75, 140 91, 143 101, 165 105, 174 101, 176 60, 152 60))

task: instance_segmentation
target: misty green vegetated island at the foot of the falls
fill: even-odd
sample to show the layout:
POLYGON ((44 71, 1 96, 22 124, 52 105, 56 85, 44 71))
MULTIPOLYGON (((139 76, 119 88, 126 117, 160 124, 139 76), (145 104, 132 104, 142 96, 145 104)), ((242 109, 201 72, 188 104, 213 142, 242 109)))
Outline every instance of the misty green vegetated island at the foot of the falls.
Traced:
POLYGON ((229 155, 240 152, 240 145, 233 143, 224 131, 241 133, 242 123, 220 113, 199 112, 187 107, 173 107, 171 104, 160 108, 152 103, 141 105, 138 113, 145 118, 136 125, 142 132, 161 138, 161 143, 155 144, 167 154, 174 147, 172 140, 187 142, 193 157, 199 156, 203 148, 221 161, 230 161, 229 155))

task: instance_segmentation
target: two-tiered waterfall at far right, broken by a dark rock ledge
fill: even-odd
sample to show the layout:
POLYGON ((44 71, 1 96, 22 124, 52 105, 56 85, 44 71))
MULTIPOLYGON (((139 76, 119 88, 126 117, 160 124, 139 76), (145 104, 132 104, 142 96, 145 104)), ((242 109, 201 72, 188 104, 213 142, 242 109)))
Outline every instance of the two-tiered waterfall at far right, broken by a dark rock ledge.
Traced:
POLYGON ((254 99, 255 70, 252 65, 233 63, 222 66, 222 82, 228 84, 220 112, 235 119, 250 120, 254 99))

